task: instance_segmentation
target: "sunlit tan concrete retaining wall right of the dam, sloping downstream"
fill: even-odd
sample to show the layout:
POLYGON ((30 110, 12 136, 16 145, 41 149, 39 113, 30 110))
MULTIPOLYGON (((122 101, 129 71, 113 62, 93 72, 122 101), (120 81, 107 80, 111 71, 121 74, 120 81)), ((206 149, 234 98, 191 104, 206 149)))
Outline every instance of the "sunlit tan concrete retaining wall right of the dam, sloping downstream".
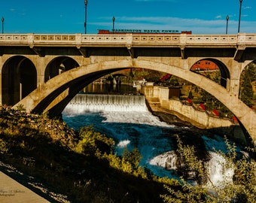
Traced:
POLYGON ((191 123, 200 129, 210 129, 218 135, 227 135, 240 144, 247 144, 240 126, 232 120, 214 117, 193 105, 185 105, 179 99, 169 98, 169 89, 163 86, 143 86, 142 92, 152 111, 164 111, 174 114, 181 120, 191 123))

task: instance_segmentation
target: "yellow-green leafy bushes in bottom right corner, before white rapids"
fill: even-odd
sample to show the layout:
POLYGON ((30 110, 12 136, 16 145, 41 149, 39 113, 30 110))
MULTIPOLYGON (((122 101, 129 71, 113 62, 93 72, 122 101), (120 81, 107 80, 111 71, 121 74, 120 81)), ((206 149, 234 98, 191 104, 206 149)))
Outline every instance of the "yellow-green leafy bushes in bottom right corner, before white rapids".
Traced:
MULTIPOLYGON (((193 168, 198 174, 203 175, 206 171, 203 165, 197 159, 194 153, 194 147, 183 146, 178 139, 178 153, 184 159, 184 165, 193 168), (190 162, 190 163, 188 163, 190 162)), ((181 177, 182 189, 175 191, 169 186, 166 186, 169 193, 160 195, 164 202, 256 202, 256 162, 254 159, 249 159, 248 156, 242 155, 239 159, 236 153, 236 145, 230 144, 230 141, 225 138, 227 153, 218 151, 221 156, 224 156, 229 167, 234 168, 233 183, 226 180, 221 186, 213 186, 212 192, 207 189, 202 183, 196 186, 190 185, 181 177)), ((256 148, 251 149, 255 151, 256 148)))

